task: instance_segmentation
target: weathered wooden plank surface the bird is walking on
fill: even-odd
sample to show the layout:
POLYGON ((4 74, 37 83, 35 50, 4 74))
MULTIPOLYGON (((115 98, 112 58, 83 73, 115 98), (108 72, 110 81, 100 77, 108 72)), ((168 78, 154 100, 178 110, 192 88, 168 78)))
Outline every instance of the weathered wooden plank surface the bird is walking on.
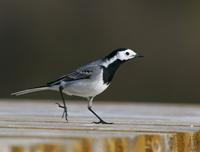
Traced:
POLYGON ((93 124, 87 102, 68 102, 69 122, 57 101, 1 100, 0 151, 197 151, 200 106, 95 102, 112 125, 93 124), (9 148, 8 148, 9 147, 9 148), (98 148, 100 147, 100 148, 98 148), (7 149, 7 150, 5 150, 7 149))

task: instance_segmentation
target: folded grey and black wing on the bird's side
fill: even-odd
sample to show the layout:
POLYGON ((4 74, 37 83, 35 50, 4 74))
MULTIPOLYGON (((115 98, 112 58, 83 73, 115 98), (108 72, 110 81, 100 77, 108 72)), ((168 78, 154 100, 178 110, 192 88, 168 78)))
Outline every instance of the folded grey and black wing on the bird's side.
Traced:
POLYGON ((95 70, 97 69, 98 69, 97 65, 91 64, 91 65, 82 66, 76 69, 75 71, 58 78, 55 81, 47 83, 47 85, 48 86, 59 85, 62 81, 67 82, 67 81, 76 81, 80 79, 89 79, 91 75, 95 72, 95 70))

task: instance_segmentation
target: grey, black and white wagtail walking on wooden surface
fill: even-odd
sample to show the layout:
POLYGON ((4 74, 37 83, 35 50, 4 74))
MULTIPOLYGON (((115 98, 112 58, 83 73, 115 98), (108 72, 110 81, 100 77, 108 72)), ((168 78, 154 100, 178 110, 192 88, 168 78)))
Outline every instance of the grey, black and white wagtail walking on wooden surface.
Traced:
POLYGON ((62 118, 68 122, 68 111, 64 94, 69 96, 79 96, 88 100, 88 110, 92 112, 98 121, 95 124, 112 124, 104 121, 92 108, 94 97, 105 91, 111 84, 117 69, 123 63, 134 58, 144 57, 131 49, 117 48, 103 58, 82 65, 72 72, 65 74, 55 81, 46 85, 34 87, 12 93, 11 95, 19 96, 27 93, 53 90, 58 91, 62 98, 63 105, 57 103, 59 108, 63 109, 62 118))

